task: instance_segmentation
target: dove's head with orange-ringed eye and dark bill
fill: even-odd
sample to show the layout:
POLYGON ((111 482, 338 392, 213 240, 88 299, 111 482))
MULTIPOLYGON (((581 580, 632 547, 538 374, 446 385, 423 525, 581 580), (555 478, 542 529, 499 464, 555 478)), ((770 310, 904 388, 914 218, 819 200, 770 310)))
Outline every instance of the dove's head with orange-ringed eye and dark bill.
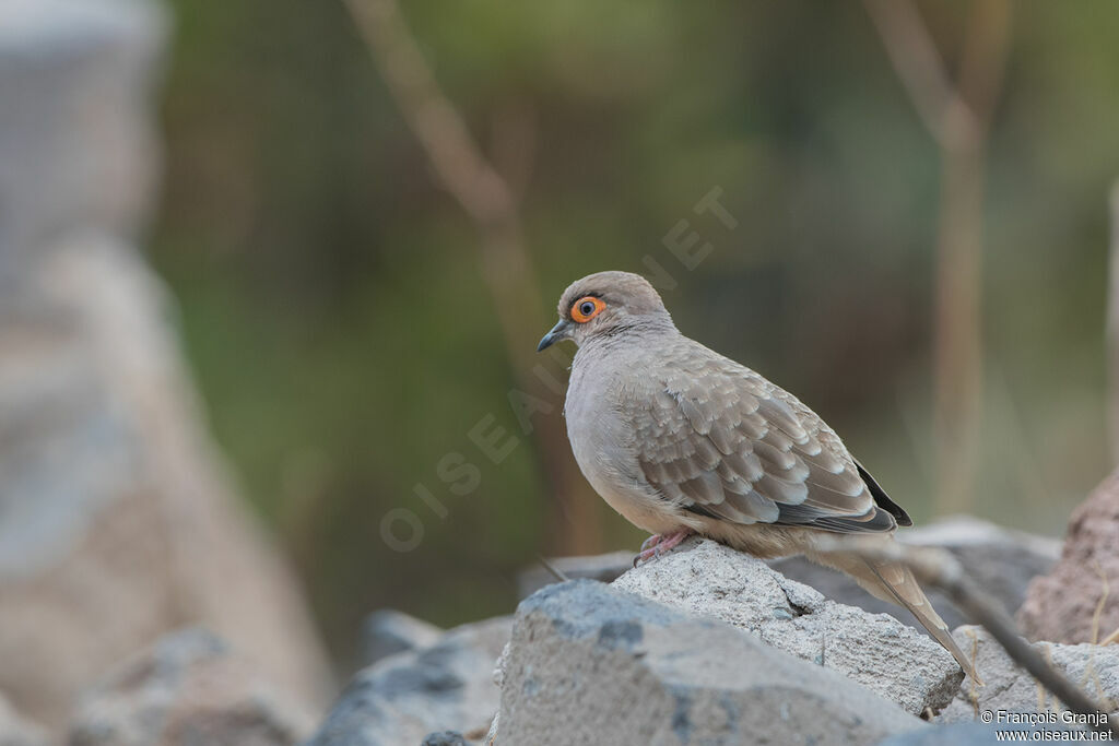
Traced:
POLYGON ((649 281, 630 272, 598 272, 576 280, 560 296, 560 322, 536 351, 570 339, 589 340, 643 329, 674 328, 660 295, 649 281))

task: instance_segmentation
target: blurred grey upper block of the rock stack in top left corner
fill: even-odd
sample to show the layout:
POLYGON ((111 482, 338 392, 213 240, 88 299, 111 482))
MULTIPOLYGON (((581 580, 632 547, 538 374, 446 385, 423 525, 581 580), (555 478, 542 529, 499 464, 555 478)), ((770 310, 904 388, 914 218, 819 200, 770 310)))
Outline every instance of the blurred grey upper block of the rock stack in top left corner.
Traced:
POLYGON ((0 3, 0 287, 72 230, 133 235, 154 189, 160 3, 0 3))

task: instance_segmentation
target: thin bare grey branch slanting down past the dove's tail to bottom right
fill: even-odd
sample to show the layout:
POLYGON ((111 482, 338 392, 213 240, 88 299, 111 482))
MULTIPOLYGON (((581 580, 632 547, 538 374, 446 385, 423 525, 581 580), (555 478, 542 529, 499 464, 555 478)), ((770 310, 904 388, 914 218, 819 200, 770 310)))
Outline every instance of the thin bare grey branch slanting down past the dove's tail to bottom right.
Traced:
MULTIPOLYGON (((821 542, 818 550, 827 554, 850 554, 866 559, 895 561, 908 566, 918 583, 939 588, 956 606, 978 622, 1003 646, 1010 660, 1025 669, 1054 697, 1081 715, 1093 718, 1109 708, 1093 700, 1061 671, 1049 664, 1040 652, 1022 636, 1014 622, 991 595, 976 585, 963 566, 951 554, 933 547, 911 547, 896 541, 837 536, 821 542)), ((1092 719, 1089 719, 1091 723, 1092 719)), ((1119 723, 1107 718, 1093 726, 1097 730, 1119 736, 1119 723)))

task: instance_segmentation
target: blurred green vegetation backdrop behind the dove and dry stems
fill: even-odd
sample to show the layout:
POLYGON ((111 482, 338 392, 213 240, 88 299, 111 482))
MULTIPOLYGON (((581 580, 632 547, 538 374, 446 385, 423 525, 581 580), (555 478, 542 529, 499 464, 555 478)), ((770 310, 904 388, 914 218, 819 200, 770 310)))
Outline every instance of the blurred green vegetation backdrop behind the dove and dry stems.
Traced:
MULTIPOLYGON (((509 611, 515 572, 555 527, 533 450, 493 466, 466 435, 487 413, 516 427, 496 314, 518 310, 493 306, 474 227, 436 186, 340 3, 172 6, 152 257, 244 493, 291 551, 339 657, 375 607, 442 624, 509 611), (469 497, 435 476, 449 451, 482 470, 469 497), (417 482, 445 520, 414 497, 417 482), (394 507, 423 519, 412 553, 380 540, 394 507)), ((922 3, 949 62, 968 8, 922 3)), ((1014 11, 988 159, 971 510, 1059 533, 1109 461, 1119 3, 1014 11)), ((680 280, 666 302, 686 333, 797 393, 918 521, 931 517, 939 154, 859 3, 404 12, 487 148, 500 151, 502 122, 528 123, 536 311, 551 314, 577 276, 643 271, 651 254, 680 280), (740 225, 708 230, 713 255, 678 271, 661 239, 713 186, 740 225)), ((601 516, 603 550, 637 546, 636 530, 601 516)))

